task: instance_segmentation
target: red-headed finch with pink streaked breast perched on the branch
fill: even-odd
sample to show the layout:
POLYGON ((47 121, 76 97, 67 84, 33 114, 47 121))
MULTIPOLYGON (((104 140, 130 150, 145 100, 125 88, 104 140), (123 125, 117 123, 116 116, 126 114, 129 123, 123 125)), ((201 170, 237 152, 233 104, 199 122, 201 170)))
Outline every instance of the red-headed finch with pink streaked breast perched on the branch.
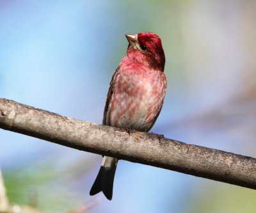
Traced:
MULTIPOLYGON (((155 33, 125 35, 127 53, 109 83, 103 125, 148 132, 157 120, 166 93, 165 56, 155 33)), ((118 159, 104 156, 90 195, 102 191, 108 200, 118 159)))

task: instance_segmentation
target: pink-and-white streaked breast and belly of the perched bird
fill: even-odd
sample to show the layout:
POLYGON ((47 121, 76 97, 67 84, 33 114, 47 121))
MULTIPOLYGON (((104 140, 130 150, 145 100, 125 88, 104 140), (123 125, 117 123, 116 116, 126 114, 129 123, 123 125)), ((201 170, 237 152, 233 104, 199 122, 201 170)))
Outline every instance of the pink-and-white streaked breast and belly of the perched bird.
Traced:
POLYGON ((148 132, 161 111, 165 91, 163 72, 120 72, 114 81, 106 125, 148 132))

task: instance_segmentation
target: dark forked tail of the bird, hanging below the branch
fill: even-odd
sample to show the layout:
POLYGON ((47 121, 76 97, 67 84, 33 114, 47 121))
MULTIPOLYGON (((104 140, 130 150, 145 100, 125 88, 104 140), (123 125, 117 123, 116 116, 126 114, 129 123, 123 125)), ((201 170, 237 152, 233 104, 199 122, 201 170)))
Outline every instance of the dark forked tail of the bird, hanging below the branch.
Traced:
POLYGON ((94 195, 102 191, 108 200, 112 199, 113 184, 118 159, 104 156, 100 171, 92 185, 90 195, 94 195))

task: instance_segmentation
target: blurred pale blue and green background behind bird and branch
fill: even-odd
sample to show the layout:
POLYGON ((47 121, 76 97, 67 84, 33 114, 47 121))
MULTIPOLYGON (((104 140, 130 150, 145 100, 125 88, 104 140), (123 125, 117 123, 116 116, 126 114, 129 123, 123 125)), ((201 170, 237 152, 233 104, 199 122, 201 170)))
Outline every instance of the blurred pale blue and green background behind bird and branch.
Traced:
MULTIPOLYGON (((256 1, 1 1, 0 97, 102 122, 126 33, 157 33, 166 138, 256 157, 256 1)), ((102 157, 0 129, 11 203, 64 212, 255 212, 256 192, 120 161, 113 200, 89 196, 102 157)))

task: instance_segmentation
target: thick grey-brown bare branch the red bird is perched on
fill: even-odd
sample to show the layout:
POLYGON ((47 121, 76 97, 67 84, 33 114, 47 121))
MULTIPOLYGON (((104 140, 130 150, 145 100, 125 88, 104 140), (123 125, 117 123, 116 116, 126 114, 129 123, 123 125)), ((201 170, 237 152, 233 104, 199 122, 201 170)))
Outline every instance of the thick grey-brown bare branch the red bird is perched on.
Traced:
MULTIPOLYGON (((256 189, 256 159, 0 99, 0 127, 86 152, 256 189)), ((2 142, 3 143, 3 142, 2 142)))

